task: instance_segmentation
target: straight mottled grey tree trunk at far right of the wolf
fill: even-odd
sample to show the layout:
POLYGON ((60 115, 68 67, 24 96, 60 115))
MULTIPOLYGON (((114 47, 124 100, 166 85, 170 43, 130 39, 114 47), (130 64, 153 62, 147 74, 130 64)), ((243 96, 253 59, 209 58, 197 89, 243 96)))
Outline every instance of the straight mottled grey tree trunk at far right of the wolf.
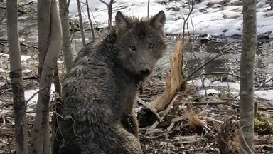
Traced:
POLYGON ((257 48, 256 0, 243 0, 243 34, 240 62, 240 153, 254 153, 253 74, 257 48))

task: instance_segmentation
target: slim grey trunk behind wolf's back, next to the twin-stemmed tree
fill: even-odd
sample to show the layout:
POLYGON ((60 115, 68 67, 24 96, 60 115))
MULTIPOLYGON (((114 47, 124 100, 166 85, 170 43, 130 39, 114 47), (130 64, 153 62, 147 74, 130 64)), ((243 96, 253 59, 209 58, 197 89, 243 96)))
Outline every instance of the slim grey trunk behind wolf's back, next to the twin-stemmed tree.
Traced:
POLYGON ((66 72, 72 67, 73 55, 70 44, 68 4, 66 0, 59 0, 60 20, 62 21, 63 30, 63 56, 65 58, 66 72))

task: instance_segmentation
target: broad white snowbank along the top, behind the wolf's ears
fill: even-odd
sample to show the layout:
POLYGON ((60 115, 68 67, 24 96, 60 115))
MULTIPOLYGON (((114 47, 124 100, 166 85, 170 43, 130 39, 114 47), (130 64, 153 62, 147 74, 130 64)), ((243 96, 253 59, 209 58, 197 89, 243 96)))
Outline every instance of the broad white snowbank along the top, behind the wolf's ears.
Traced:
MULTIPOLYGON (((105 0, 107 1, 107 0, 105 0)), ((82 1, 83 2, 83 1, 82 1)), ((150 1, 150 14, 154 15, 160 10, 166 13, 166 34, 181 34, 183 31, 183 17, 186 18, 189 9, 187 1, 172 1, 164 3, 163 0, 150 1), (182 17, 183 16, 183 17, 182 17)), ((223 4, 223 0, 203 0, 194 5, 192 23, 189 20, 189 31, 196 34, 211 34, 214 36, 242 35, 242 1, 230 0, 223 4), (193 27, 193 28, 192 28, 193 27)), ((148 0, 117 0, 113 4, 112 19, 117 11, 129 16, 147 16, 148 0)), ((96 26, 107 26, 107 6, 99 0, 89 0, 92 21, 96 26)), ((77 16, 77 3, 70 2, 70 16, 77 16)), ((258 0, 257 3, 257 33, 268 33, 273 38, 273 10, 266 1, 258 0)), ((83 7, 83 18, 87 20, 87 9, 83 7)))

